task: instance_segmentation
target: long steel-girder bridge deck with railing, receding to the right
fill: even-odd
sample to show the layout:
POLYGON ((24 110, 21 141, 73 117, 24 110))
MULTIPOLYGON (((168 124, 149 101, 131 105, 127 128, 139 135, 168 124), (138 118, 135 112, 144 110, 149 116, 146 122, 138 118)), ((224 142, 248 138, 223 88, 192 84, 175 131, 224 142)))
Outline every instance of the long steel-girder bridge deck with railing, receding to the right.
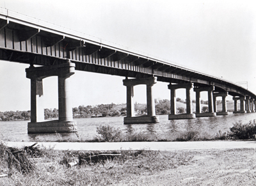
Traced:
POLYGON ((121 49, 99 38, 0 8, 0 59, 33 65, 56 65, 70 59, 76 70, 158 81, 215 86, 232 96, 252 92, 218 77, 121 49))

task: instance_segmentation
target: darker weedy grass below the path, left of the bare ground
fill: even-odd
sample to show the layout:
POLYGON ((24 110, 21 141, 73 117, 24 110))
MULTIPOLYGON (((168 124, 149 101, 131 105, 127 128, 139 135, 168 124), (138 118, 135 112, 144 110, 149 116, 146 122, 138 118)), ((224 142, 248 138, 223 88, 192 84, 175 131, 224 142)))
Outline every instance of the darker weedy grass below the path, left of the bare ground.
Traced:
MULTIPOLYGON (((6 148, 2 143, 0 148, 6 148)), ((129 182, 134 176, 152 175, 166 169, 177 169, 191 164, 191 155, 184 152, 161 152, 150 150, 120 151, 58 151, 44 149, 41 162, 35 169, 22 173, 19 169, 8 169, 1 156, 0 172, 8 174, 0 178, 0 185, 110 185, 129 182), (114 159, 96 163, 83 162, 68 167, 67 162, 81 162, 81 157, 99 153, 121 153, 114 159)))

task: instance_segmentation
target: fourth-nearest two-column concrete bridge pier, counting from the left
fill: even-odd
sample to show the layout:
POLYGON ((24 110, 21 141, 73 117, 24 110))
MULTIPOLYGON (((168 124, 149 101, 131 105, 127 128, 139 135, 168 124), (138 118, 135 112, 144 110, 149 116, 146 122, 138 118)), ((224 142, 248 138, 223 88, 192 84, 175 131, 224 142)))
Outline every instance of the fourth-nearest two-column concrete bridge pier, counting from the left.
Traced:
POLYGON ((212 91, 214 91, 214 86, 210 87, 202 87, 202 88, 194 88, 196 92, 196 117, 210 117, 216 116, 216 112, 213 112, 213 97, 212 91), (201 111, 201 102, 200 102, 200 92, 207 91, 208 92, 208 112, 202 113, 201 111))

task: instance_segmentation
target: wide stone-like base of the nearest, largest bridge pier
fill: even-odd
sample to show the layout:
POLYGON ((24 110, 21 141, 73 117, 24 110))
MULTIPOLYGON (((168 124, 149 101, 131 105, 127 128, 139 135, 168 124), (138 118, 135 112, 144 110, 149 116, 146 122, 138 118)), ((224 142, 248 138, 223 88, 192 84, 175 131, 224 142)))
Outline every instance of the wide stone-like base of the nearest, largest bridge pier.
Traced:
POLYGON ((55 133, 55 132, 77 132, 76 121, 42 121, 29 122, 28 134, 55 133))

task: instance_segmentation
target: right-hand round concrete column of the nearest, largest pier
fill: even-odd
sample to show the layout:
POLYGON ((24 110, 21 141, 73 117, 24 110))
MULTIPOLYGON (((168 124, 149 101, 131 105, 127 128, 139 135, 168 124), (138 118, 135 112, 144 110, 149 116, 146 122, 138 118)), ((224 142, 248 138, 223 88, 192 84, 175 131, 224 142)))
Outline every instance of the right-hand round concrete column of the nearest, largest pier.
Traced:
POLYGON ((59 121, 72 121, 72 105, 70 95, 69 76, 58 76, 58 95, 59 95, 59 121))

